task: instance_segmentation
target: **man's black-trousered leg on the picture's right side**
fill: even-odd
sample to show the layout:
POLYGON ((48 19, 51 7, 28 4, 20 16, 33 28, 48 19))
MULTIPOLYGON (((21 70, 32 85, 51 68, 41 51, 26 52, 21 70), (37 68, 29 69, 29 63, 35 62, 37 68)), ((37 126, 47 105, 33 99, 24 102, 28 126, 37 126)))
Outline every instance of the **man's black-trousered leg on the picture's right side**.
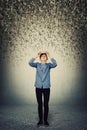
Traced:
POLYGON ((47 122, 49 112, 50 88, 43 90, 44 94, 44 122, 47 122))

